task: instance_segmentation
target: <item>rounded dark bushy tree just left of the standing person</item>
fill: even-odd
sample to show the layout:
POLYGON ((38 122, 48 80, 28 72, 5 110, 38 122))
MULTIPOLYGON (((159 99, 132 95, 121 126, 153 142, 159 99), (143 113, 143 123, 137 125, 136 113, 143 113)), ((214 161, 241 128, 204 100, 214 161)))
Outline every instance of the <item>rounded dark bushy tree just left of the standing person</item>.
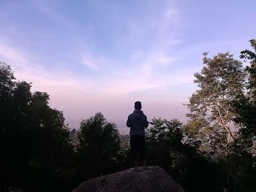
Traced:
POLYGON ((78 156, 81 180, 115 170, 120 149, 116 124, 108 123, 101 112, 80 123, 78 156))

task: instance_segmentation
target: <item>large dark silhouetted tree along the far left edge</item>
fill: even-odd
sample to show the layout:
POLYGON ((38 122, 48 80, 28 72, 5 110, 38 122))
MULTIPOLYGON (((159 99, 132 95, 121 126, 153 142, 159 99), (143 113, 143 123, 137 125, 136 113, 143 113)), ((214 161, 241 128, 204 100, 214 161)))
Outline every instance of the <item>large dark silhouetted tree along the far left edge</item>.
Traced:
POLYGON ((63 112, 48 106, 47 93, 16 82, 9 65, 0 64, 0 77, 0 191, 70 191, 73 152, 63 112))

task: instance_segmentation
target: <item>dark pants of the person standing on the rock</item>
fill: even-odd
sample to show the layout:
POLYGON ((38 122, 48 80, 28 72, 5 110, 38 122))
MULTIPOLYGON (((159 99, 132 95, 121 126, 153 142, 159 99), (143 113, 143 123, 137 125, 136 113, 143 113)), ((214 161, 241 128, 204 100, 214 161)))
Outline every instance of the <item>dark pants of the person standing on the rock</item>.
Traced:
POLYGON ((139 134, 130 136, 131 153, 134 161, 146 159, 145 137, 139 134))

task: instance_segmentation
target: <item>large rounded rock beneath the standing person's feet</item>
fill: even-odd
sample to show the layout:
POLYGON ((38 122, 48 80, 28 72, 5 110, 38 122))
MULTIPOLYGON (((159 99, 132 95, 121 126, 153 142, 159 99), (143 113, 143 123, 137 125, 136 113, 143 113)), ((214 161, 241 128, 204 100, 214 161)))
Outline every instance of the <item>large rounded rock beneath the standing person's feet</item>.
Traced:
POLYGON ((139 167, 139 172, 127 169, 104 177, 97 177, 80 183, 73 192, 126 192, 126 191, 170 191, 184 192, 178 183, 159 166, 148 166, 144 170, 139 167))

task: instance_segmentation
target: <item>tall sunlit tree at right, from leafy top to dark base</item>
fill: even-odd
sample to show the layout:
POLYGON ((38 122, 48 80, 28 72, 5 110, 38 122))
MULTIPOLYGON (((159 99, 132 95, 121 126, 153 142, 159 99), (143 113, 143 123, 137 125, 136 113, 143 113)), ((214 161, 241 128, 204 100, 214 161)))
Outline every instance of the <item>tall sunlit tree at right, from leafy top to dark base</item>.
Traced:
MULTIPOLYGON (((226 175, 227 191, 252 190, 248 169, 255 177, 255 158, 249 153, 252 140, 241 134, 241 111, 246 103, 246 73, 241 61, 230 53, 214 58, 204 54, 203 69, 195 74, 198 89, 189 98, 189 122, 185 127, 189 142, 200 142, 210 161, 226 175), (246 160, 245 158, 246 157, 246 160), (250 183, 250 184, 249 184, 250 183)), ((249 93, 249 92, 248 92, 249 93)))

